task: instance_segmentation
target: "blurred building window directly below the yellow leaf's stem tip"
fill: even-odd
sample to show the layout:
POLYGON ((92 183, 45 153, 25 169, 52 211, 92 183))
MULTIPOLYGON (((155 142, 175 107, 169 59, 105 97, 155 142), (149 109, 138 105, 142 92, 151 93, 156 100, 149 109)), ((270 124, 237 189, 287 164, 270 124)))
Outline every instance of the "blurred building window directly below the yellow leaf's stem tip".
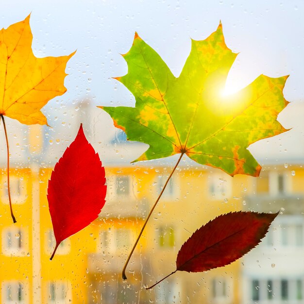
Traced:
POLYGON ((27 252, 25 232, 18 227, 8 227, 2 231, 2 253, 5 255, 25 255, 27 252))

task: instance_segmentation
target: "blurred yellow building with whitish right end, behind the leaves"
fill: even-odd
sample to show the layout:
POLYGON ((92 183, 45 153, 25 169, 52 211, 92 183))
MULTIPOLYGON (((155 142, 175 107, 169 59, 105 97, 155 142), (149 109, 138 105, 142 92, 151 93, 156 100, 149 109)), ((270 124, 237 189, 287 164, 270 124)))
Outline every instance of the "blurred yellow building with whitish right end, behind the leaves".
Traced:
POLYGON ((33 162, 28 168, 11 169, 16 224, 10 217, 2 169, 1 304, 304 303, 300 165, 264 166, 260 178, 232 178, 182 161, 128 265, 128 280, 121 279, 128 253, 173 166, 174 162, 106 166, 107 202, 100 217, 66 239, 52 261, 55 241, 47 202, 52 168, 33 162), (181 245, 207 221, 230 211, 274 212, 281 207, 270 236, 244 259, 203 273, 178 271, 145 289, 176 269, 181 245))

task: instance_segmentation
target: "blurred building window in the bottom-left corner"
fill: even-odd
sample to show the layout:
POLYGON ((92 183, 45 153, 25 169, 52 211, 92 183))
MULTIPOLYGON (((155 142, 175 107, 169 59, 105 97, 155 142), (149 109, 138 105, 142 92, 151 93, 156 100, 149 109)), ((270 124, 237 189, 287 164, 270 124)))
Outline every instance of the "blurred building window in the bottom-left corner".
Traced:
POLYGON ((2 303, 4 304, 25 304, 25 290, 21 282, 3 282, 2 303))

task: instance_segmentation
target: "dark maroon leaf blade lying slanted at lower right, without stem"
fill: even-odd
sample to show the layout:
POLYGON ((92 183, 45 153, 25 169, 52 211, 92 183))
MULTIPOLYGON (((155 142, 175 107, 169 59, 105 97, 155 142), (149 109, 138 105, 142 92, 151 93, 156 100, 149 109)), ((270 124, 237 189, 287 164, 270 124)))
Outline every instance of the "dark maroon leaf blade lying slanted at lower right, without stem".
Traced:
POLYGON ((238 211, 209 221, 183 244, 176 270, 199 272, 234 262, 260 242, 278 214, 238 211))

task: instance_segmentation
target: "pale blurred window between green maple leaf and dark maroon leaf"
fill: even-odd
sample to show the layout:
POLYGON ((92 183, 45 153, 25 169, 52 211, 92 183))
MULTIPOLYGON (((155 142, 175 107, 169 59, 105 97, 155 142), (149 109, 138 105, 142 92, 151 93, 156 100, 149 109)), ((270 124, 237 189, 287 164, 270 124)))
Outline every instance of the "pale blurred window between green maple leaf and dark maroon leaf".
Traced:
POLYGON ((231 178, 229 176, 214 173, 208 177, 209 194, 215 200, 231 197, 231 188, 231 178))

